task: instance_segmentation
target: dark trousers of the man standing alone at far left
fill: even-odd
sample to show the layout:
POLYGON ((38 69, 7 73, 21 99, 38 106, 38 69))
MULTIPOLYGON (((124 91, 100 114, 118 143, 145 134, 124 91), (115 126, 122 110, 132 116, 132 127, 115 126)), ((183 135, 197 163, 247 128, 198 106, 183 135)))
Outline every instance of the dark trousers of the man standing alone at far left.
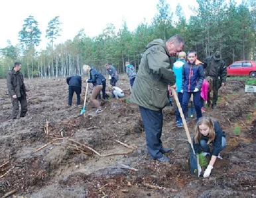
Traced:
POLYGON ((25 117, 27 114, 27 98, 25 95, 19 98, 11 98, 11 102, 13 104, 13 114, 12 119, 15 119, 19 114, 19 102, 21 103, 21 114, 20 117, 25 117))

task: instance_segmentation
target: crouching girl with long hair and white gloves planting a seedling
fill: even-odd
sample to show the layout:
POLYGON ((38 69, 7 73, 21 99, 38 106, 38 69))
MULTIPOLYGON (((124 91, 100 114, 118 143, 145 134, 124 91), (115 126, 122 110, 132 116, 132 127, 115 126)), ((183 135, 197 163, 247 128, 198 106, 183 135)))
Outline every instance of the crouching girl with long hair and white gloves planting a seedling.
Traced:
MULTIPOLYGON (((193 139, 194 150, 196 154, 203 150, 203 155, 210 154, 209 145, 212 144, 212 157, 204 172, 204 178, 210 176, 217 158, 222 159, 220 152, 225 149, 227 143, 225 140, 225 132, 218 121, 214 121, 210 117, 201 117, 196 123, 196 135, 193 139)), ((200 167, 200 166, 198 166, 200 167)), ((199 168, 199 170, 202 170, 199 168)))

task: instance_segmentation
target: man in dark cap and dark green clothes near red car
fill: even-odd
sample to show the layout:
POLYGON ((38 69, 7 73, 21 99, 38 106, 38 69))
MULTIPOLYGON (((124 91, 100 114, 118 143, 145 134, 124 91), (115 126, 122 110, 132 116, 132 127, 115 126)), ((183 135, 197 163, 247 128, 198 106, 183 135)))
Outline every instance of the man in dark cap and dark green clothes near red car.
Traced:
MULTIPOLYGON (((205 76, 212 77, 212 108, 217 108, 218 90, 221 86, 225 86, 227 78, 227 67, 223 59, 220 58, 220 51, 216 51, 214 55, 204 59, 205 76)), ((210 92, 208 92, 208 105, 210 106, 210 92)))

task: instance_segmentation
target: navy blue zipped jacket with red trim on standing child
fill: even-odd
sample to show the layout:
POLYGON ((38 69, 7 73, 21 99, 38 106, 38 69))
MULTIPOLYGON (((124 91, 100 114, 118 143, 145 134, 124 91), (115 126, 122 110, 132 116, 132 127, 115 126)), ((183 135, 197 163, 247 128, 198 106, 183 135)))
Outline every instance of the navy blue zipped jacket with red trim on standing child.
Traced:
POLYGON ((201 61, 194 63, 186 62, 182 69, 182 90, 184 92, 194 92, 195 88, 201 89, 204 81, 204 67, 201 61))

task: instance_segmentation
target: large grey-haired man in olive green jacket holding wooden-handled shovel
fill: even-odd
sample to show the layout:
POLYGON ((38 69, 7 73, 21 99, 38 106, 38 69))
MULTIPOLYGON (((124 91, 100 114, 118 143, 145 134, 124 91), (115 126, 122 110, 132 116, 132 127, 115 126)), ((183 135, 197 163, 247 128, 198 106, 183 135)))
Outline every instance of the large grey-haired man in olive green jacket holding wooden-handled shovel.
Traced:
POLYGON ((170 37, 167 42, 157 39, 149 43, 131 91, 131 102, 138 104, 141 111, 149 154, 160 162, 170 162, 163 154, 171 149, 164 149, 160 140, 162 109, 168 105, 168 89, 176 80, 170 69, 170 56, 178 55, 184 44, 179 35, 170 37))

